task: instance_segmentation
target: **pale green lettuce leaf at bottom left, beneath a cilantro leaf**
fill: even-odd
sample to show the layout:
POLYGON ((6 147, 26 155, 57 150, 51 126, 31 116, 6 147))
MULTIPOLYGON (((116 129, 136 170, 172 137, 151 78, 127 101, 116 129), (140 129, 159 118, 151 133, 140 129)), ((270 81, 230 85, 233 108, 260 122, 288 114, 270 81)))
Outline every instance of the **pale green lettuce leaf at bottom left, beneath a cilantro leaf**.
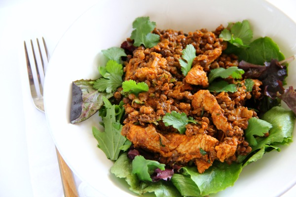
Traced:
POLYGON ((130 186, 129 189, 136 194, 154 193, 156 197, 181 197, 170 181, 141 181, 137 174, 132 173, 132 168, 132 161, 127 157, 126 153, 123 153, 112 165, 111 173, 118 178, 124 178, 130 186))

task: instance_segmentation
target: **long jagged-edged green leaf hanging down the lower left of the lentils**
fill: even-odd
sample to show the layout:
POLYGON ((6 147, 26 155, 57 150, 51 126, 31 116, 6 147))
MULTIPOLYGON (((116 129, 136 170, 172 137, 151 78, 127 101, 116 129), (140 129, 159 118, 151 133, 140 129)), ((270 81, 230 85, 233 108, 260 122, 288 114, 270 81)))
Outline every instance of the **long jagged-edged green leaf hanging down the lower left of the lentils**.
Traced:
POLYGON ((122 125, 116 121, 115 105, 112 105, 105 97, 103 101, 106 107, 106 116, 103 117, 105 131, 101 132, 93 127, 92 132, 99 143, 98 147, 108 159, 115 161, 118 159, 120 147, 124 145, 126 138, 121 135, 122 125))

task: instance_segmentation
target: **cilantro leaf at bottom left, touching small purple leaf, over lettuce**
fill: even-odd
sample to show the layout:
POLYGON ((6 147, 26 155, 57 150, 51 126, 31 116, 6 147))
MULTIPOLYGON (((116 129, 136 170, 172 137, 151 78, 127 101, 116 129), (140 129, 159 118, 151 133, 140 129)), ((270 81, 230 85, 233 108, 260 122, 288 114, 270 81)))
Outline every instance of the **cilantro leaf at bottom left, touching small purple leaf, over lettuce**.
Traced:
POLYGON ((137 174, 138 178, 142 181, 152 181, 150 175, 154 172, 156 168, 165 170, 165 164, 160 164, 159 162, 152 160, 146 160, 141 155, 136 156, 132 164, 132 172, 134 174, 137 174))

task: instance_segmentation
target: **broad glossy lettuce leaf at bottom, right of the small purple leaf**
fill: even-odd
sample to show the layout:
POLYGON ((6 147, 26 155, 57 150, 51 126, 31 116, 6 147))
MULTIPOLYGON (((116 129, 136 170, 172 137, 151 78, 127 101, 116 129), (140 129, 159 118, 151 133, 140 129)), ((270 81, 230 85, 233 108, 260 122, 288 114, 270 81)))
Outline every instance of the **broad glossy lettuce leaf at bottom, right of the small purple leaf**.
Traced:
POLYGON ((190 175, 190 178, 197 185, 201 196, 215 194, 224 190, 229 186, 233 186, 242 171, 242 164, 232 163, 231 165, 221 162, 214 164, 205 172, 200 174, 196 166, 183 167, 185 175, 190 175))

